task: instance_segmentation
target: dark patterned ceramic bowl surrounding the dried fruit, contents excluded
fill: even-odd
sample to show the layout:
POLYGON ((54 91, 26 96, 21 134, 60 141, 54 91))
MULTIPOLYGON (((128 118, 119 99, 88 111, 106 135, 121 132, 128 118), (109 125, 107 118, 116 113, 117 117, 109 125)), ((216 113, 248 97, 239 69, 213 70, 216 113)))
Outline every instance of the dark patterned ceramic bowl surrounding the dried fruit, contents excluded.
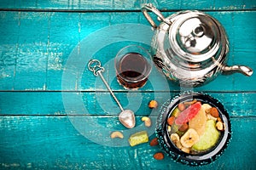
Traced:
POLYGON ((208 94, 186 92, 177 95, 174 99, 170 99, 166 101, 164 105, 162 105, 160 116, 158 117, 157 121, 156 136, 159 140, 160 147, 166 150, 167 155, 171 156, 174 161, 182 162, 183 164, 190 166, 206 165, 212 161, 215 161, 219 156, 221 156, 227 145, 230 143, 230 117, 228 112, 224 109, 224 105, 222 105, 218 99, 214 99, 208 94), (218 144, 215 144, 212 149, 198 154, 188 154, 182 150, 177 149, 177 147, 172 144, 170 135, 167 131, 168 125, 166 121, 172 114, 172 111, 180 102, 189 101, 191 99, 197 99, 203 103, 207 103, 213 107, 216 107, 218 109, 220 118, 225 124, 225 129, 220 134, 218 144))

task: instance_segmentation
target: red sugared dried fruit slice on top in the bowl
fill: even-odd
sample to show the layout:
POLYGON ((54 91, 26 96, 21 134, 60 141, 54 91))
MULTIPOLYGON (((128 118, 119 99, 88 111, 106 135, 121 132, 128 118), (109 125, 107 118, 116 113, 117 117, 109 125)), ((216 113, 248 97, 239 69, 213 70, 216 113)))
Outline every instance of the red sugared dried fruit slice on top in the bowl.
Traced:
POLYGON ((182 125, 185 122, 189 122, 191 119, 195 117, 198 111, 201 109, 201 103, 196 102, 193 105, 190 105, 187 109, 182 111, 179 116, 177 116, 175 123, 177 125, 182 125))

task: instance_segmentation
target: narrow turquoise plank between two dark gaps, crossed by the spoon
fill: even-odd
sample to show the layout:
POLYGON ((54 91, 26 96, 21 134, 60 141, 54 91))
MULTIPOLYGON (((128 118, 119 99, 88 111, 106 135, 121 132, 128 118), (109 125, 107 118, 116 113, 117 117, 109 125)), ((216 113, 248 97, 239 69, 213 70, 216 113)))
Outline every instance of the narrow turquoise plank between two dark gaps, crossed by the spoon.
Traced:
MULTIPOLYGON (((147 93, 145 91, 115 93, 121 104, 136 112, 136 115, 158 115, 160 105, 178 92, 147 93), (148 109, 148 102, 155 99, 159 103, 156 111, 148 109)), ((209 92, 219 99, 230 116, 256 116, 255 93, 209 92)), ((119 114, 119 107, 108 92, 1 92, 0 115, 81 115, 113 116, 119 114), (67 100, 66 100, 67 99, 67 100), (12 105, 10 107, 10 104, 12 105), (86 109, 80 107, 83 105, 86 109), (70 109, 73 108, 73 109, 70 109), (69 111, 73 112, 69 112, 69 111)))

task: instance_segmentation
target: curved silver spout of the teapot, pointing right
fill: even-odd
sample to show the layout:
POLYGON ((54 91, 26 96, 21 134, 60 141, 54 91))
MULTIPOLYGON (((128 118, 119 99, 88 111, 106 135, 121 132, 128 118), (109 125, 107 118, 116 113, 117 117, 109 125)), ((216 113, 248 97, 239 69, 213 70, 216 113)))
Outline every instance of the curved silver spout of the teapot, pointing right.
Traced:
POLYGON ((222 67, 222 71, 223 71, 223 74, 227 74, 227 75, 235 72, 239 72, 247 77, 250 77, 253 75, 253 69, 245 65, 232 65, 232 66, 224 65, 222 67))

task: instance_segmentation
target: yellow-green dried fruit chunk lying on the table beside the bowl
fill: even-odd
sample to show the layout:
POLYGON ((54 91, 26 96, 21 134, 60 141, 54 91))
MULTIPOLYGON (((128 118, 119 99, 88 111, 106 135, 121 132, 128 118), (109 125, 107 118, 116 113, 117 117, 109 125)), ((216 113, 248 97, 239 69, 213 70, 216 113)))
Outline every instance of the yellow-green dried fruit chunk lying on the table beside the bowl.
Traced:
POLYGON ((131 137, 129 138, 129 143, 131 146, 143 144, 146 142, 148 142, 148 133, 146 131, 131 134, 131 137))

